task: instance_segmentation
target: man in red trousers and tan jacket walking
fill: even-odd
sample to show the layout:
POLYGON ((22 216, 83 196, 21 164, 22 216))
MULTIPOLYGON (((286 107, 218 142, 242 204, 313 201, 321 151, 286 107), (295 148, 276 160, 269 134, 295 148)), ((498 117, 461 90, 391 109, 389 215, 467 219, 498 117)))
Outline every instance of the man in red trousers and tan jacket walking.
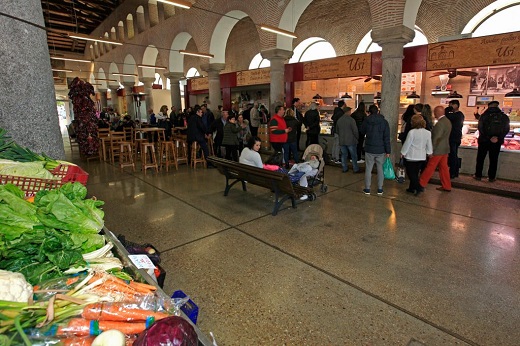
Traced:
POLYGON ((421 188, 425 188, 435 172, 435 169, 439 167, 439 176, 442 186, 438 187, 437 190, 450 192, 451 180, 450 169, 448 168, 448 154, 450 152, 451 122, 444 115, 444 107, 442 106, 435 107, 433 115, 435 119, 437 119, 437 124, 433 127, 431 134, 433 154, 428 160, 426 169, 421 173, 419 184, 421 188))

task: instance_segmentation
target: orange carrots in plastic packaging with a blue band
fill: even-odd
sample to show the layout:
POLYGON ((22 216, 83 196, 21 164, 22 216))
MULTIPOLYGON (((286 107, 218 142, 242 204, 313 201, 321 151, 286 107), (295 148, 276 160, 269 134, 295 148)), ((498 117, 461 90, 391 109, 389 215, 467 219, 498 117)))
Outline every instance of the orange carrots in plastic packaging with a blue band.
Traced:
POLYGON ((139 334, 147 327, 146 322, 94 321, 83 318, 72 318, 66 326, 59 327, 56 335, 87 336, 99 334, 105 330, 117 329, 130 335, 139 334))

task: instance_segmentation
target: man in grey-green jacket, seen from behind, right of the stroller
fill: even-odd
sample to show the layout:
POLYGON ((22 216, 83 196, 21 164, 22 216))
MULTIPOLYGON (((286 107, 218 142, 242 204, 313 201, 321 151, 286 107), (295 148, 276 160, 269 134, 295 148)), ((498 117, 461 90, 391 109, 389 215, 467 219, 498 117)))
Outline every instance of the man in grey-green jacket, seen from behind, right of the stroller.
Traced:
POLYGON ((350 152, 352 157, 352 169, 354 173, 359 173, 359 167, 357 164, 357 143, 359 132, 356 125, 356 121, 350 116, 352 108, 344 107, 344 114, 339 116, 336 121, 336 134, 338 135, 338 144, 341 148, 341 166, 343 173, 348 172, 348 157, 347 154, 350 152))

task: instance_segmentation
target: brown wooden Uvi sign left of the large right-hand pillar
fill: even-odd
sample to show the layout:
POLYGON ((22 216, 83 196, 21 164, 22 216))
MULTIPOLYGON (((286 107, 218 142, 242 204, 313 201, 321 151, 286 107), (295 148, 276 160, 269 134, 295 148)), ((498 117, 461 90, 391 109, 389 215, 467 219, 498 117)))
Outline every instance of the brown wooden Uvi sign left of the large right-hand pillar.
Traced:
POLYGON ((303 80, 370 76, 371 69, 370 53, 344 55, 331 59, 304 62, 303 80))

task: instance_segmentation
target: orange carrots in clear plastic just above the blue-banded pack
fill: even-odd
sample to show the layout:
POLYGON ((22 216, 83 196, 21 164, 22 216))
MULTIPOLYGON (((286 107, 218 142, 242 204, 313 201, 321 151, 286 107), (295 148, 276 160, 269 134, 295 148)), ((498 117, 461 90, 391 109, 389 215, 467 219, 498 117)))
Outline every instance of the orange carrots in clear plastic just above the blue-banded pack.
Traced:
POLYGON ((81 316, 87 320, 144 322, 151 317, 157 321, 169 315, 128 306, 125 303, 93 303, 85 306, 81 316))

